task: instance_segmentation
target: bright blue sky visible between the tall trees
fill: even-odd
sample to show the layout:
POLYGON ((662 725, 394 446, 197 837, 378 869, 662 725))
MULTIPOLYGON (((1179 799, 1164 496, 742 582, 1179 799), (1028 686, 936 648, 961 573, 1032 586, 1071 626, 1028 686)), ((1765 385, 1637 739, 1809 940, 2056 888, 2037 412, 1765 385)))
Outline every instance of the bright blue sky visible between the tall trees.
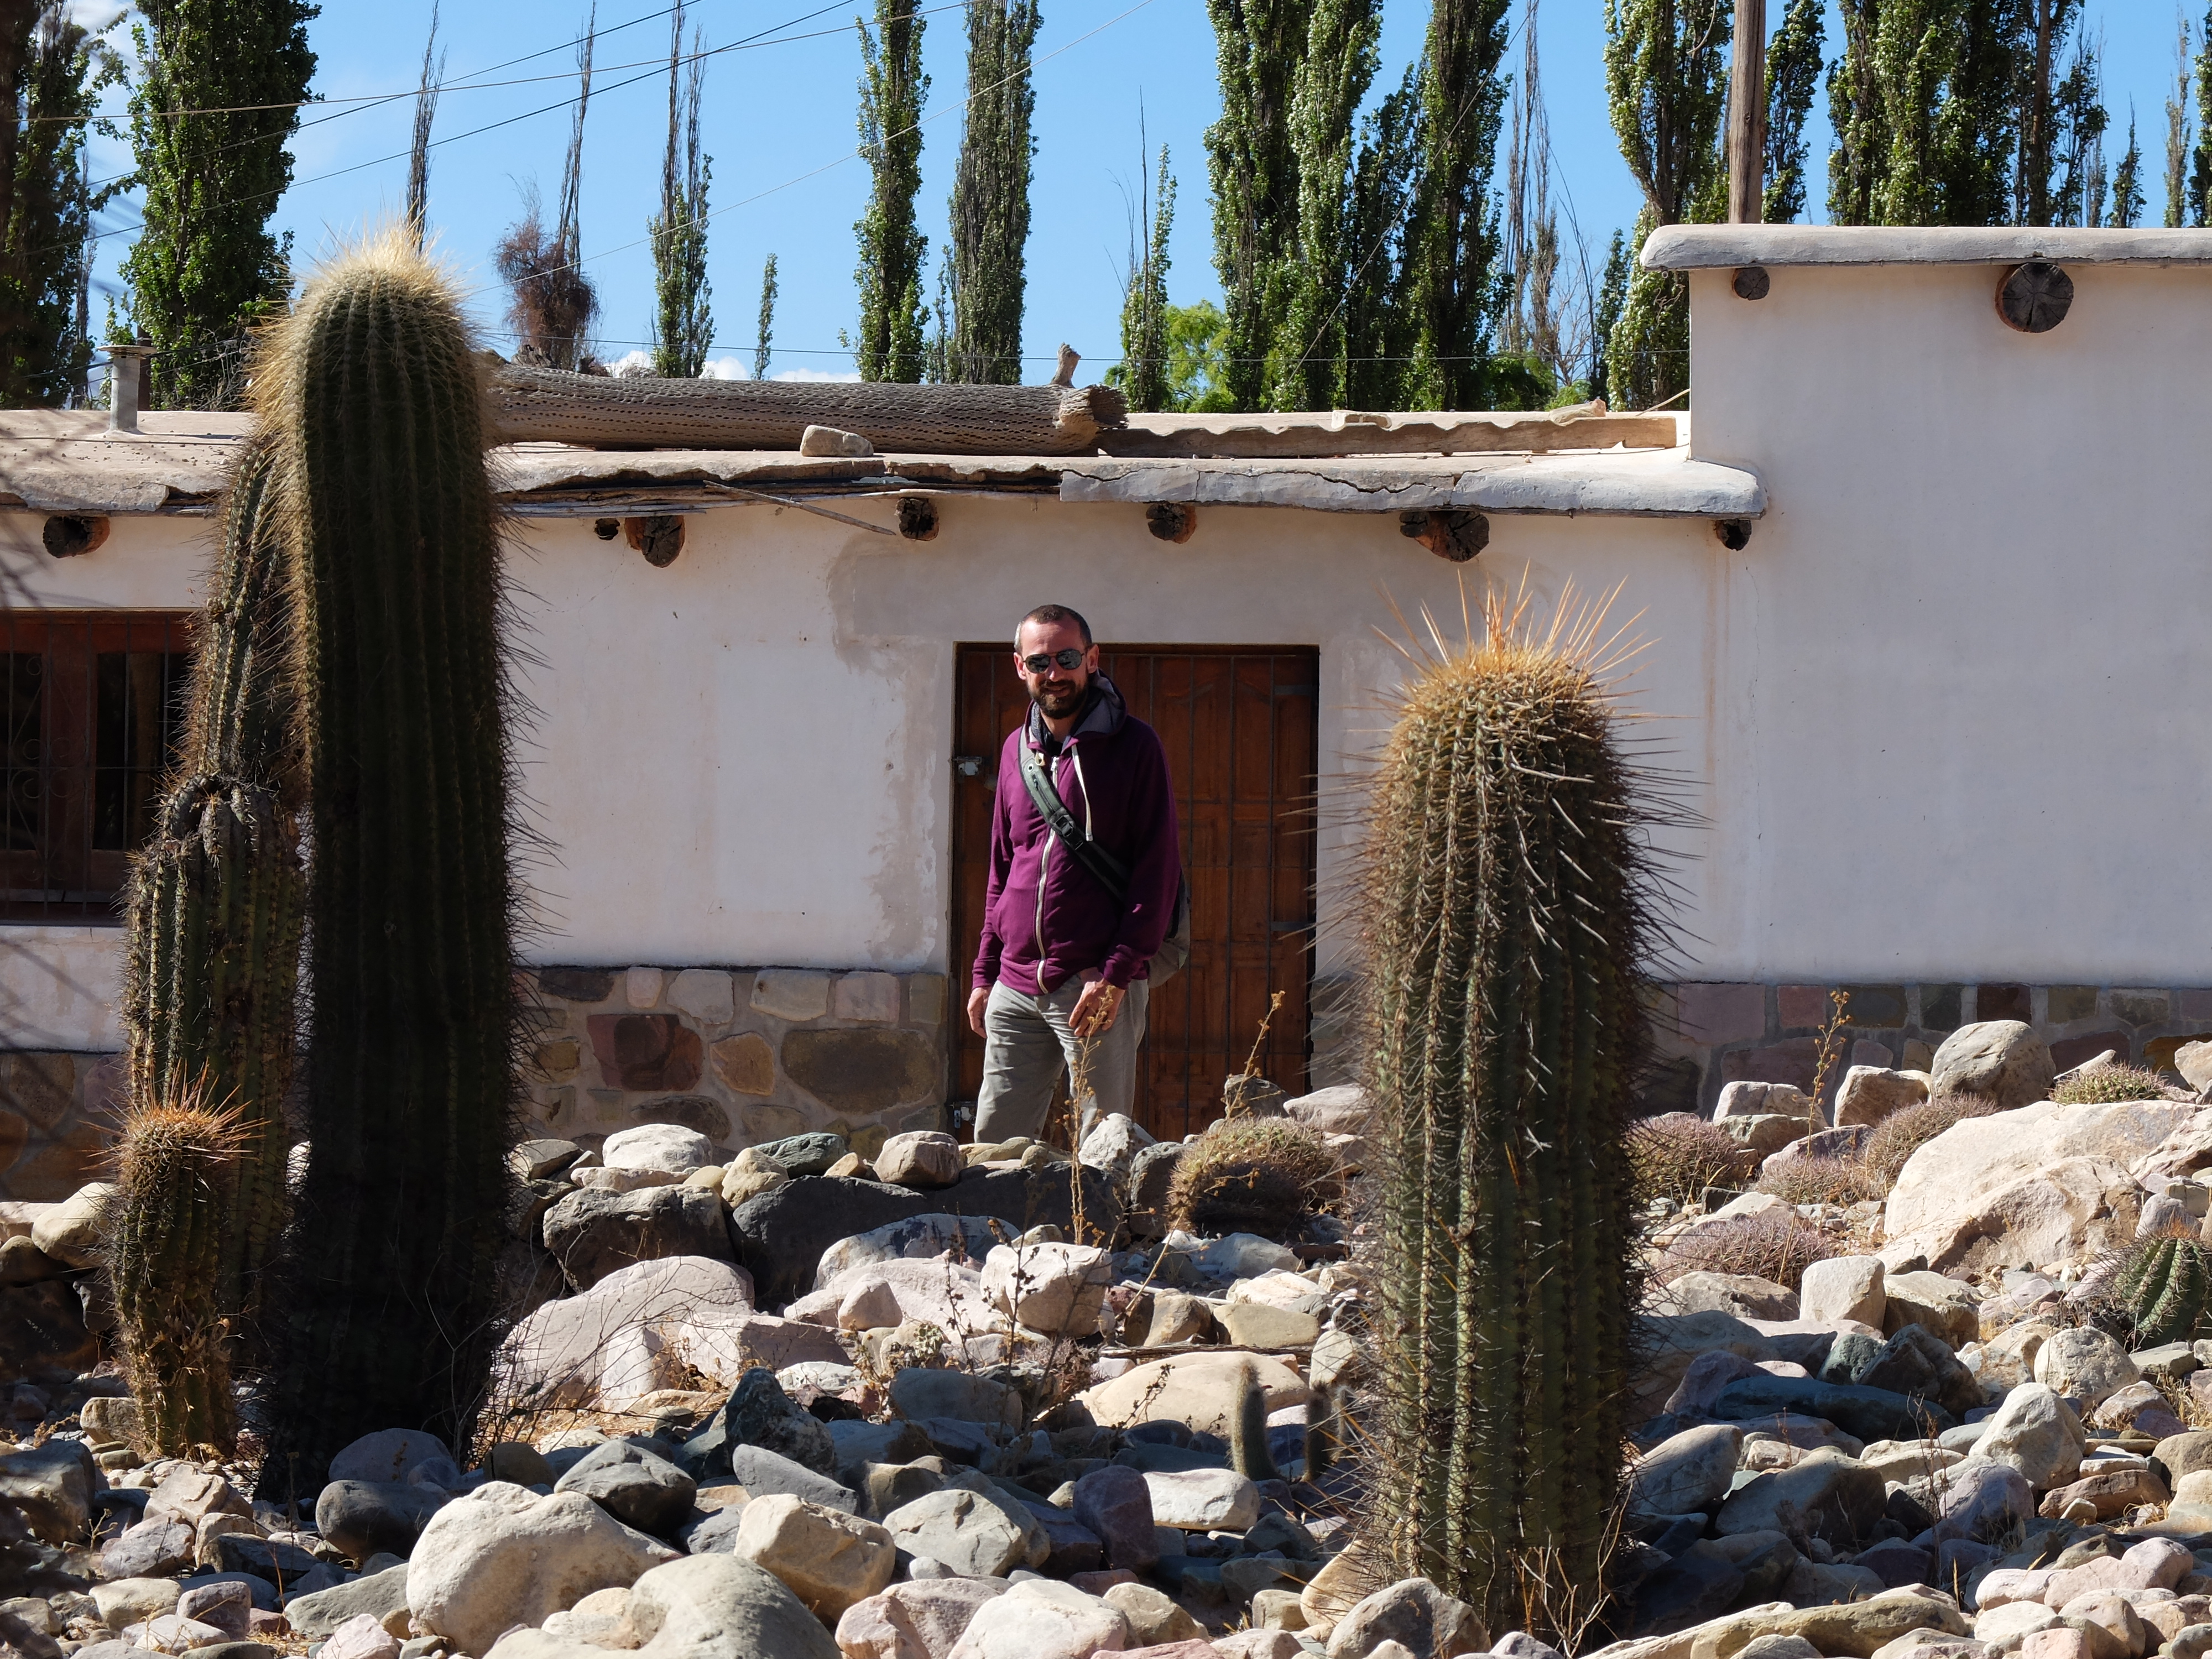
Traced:
MULTIPOLYGON (((504 294, 489 268, 500 230, 518 217, 520 188, 538 181, 551 199, 568 137, 564 100, 575 93, 568 42, 582 33, 588 0, 447 0, 440 35, 449 91, 438 106, 429 217, 438 250, 478 294, 476 314, 493 345, 504 294), (549 51, 551 49, 551 51, 549 51), (535 53, 535 55, 533 55, 535 53), (511 62, 522 60, 522 62, 511 62), (542 80, 533 80, 542 77, 542 80), (465 91, 467 82, 478 82, 465 91), (507 84, 491 84, 507 82, 507 84), (544 108, 557 106, 557 108, 544 108), (544 113, 533 113, 544 111, 544 113), (476 131, 491 128, 491 131, 476 131)), ((599 336, 622 356, 648 336, 653 261, 644 246, 657 206, 666 133, 666 0, 599 0, 599 51, 584 142, 584 250, 599 285, 599 336)), ((960 7, 931 7, 925 66, 931 117, 922 150, 922 226, 931 274, 945 226, 964 97, 960 7)), ((1515 0, 1515 44, 1528 0, 1515 0)), ((1778 22, 1781 0, 1770 0, 1778 22)), ((341 102, 411 91, 429 29, 429 0, 323 0, 310 24, 321 55, 314 91, 330 100, 305 113, 294 139, 294 186, 276 226, 294 234, 301 263, 405 199, 411 100, 341 102)), ((754 338, 761 261, 776 254, 772 372, 849 374, 838 330, 856 316, 854 219, 867 195, 867 168, 854 157, 858 46, 852 0, 814 11, 812 0, 692 0, 692 22, 708 46, 768 33, 763 44, 723 51, 706 82, 706 150, 714 157, 708 241, 714 283, 717 356, 748 356, 754 338), (807 15, 812 11, 812 15, 807 15)), ((1420 49, 1425 0, 1385 0, 1383 71, 1376 88, 1396 86, 1420 49)), ((2104 35, 2106 102, 2121 137, 2135 102, 2150 179, 2148 217, 2163 208, 2163 100, 2172 82, 2174 15, 2159 0, 2090 0, 2088 29, 2104 35)), ((117 31, 117 40, 124 40, 117 31)), ((1555 153, 1553 190, 1562 234, 1579 232, 1593 263, 1610 232, 1637 210, 1635 184, 1619 159, 1604 102, 1604 9, 1599 0, 1542 0, 1537 40, 1555 153)), ((1829 53, 1838 31, 1829 24, 1829 53)), ((1119 354, 1121 272, 1128 259, 1128 208, 1141 188, 1139 111, 1150 142, 1170 148, 1181 181, 1172 241, 1170 296, 1219 296, 1206 206, 1201 135, 1219 111, 1214 44, 1203 0, 1044 0, 1037 40, 1037 161, 1029 241, 1024 352, 1031 378, 1051 374, 1060 341, 1095 367, 1119 354)), ((1816 170, 1827 150, 1825 97, 1816 102, 1816 170)), ((95 173, 119 173, 128 155, 97 142, 95 173)), ((1814 197, 1825 192, 1816 177, 1814 197)), ((1816 206, 1818 217, 1818 206, 1816 206)), ((128 250, 135 212, 104 217, 100 276, 113 285, 128 250)), ((95 301, 95 316, 97 316, 95 301)))

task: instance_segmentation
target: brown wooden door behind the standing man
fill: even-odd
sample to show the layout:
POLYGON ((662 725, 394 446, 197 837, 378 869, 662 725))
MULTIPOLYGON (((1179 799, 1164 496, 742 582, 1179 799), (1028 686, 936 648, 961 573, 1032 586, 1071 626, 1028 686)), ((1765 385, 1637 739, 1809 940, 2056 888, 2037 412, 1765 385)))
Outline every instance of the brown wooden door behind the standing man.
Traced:
MULTIPOLYGON (((1181 1139, 1221 1115, 1272 993, 1259 1071, 1305 1093, 1314 929, 1318 653, 1298 646, 1108 646, 1102 666, 1168 750, 1190 876, 1190 967, 1152 998, 1135 1115, 1181 1139)), ((1004 644, 960 646, 953 714, 953 1077, 982 1086, 982 1040, 962 1004, 982 931, 991 794, 1029 695, 1004 644)))

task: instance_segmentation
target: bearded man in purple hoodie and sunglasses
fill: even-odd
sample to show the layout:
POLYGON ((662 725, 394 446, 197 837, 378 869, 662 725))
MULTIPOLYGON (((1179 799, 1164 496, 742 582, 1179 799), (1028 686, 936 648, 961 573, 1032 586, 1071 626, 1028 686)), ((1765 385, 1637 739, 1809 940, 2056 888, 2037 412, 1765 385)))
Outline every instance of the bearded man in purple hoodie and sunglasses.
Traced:
POLYGON ((1128 1113, 1146 975, 1183 874, 1168 757, 1099 672, 1091 624, 1042 604, 1015 628, 1013 657, 1031 710, 1000 750, 991 803, 991 880, 969 991, 969 1026, 984 1040, 978 1141, 1042 1137, 1062 1066, 1088 1084, 1084 1126, 1097 1113, 1128 1113), (1126 872, 1124 894, 1046 823, 1022 781, 1024 750, 1082 836, 1126 872))

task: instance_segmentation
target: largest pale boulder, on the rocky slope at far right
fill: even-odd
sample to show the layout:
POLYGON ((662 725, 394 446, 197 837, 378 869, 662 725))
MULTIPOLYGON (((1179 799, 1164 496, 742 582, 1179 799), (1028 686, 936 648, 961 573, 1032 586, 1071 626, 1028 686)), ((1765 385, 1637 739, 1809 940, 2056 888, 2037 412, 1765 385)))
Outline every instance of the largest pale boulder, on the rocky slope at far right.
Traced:
POLYGON ((1958 1279, 2081 1261, 2128 1243, 2143 1188, 2128 1166, 2203 1106, 2037 1102, 1953 1124, 1907 1159, 1882 1212, 1882 1259, 1958 1279))

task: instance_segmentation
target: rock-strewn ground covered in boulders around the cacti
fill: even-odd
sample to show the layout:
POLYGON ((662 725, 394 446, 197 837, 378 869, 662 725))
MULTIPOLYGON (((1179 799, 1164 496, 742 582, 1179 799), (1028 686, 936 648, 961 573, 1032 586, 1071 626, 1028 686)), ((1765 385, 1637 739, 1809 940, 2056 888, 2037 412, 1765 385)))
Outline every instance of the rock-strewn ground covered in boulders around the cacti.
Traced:
MULTIPOLYGON (((1969 1026, 1933 1073, 1854 1071, 1834 1124, 1732 1086, 1694 1126, 1743 1159, 1652 1199, 1617 1599, 1562 1646, 2212 1650, 2212 1343, 2132 1345, 2104 1296, 2137 1234, 2201 1230, 2212 1106, 2055 1104, 2081 1091, 2037 1048, 1969 1026), (1885 1172, 1869 1141, 1916 1110, 1947 1126, 1885 1172)), ((1358 1170, 1356 1091, 1250 1104, 1358 1170)), ((1128 1119, 1073 1166, 942 1135, 872 1166, 827 1135, 732 1164, 670 1126, 524 1144, 526 1312, 471 1467, 392 1429, 296 1511, 246 1467, 144 1460, 55 1323, 0 1447, 0 1659, 1553 1655, 1345 1548, 1358 1181, 1274 1239, 1201 1237, 1168 1225, 1188 1155, 1128 1119)), ((71 1283, 100 1201, 0 1214, 0 1279, 71 1283)))

